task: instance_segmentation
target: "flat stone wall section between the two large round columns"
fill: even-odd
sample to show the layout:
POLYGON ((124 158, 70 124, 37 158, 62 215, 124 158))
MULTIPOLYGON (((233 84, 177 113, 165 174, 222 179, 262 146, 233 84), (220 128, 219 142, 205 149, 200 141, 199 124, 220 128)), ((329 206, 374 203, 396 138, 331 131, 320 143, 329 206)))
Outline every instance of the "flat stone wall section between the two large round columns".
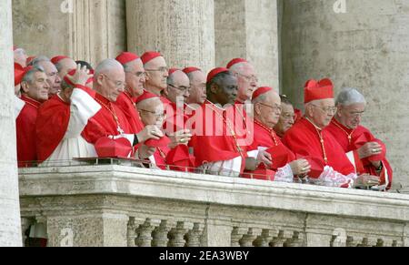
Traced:
POLYGON ((261 86, 279 89, 276 0, 215 0, 216 65, 232 58, 250 60, 261 86))

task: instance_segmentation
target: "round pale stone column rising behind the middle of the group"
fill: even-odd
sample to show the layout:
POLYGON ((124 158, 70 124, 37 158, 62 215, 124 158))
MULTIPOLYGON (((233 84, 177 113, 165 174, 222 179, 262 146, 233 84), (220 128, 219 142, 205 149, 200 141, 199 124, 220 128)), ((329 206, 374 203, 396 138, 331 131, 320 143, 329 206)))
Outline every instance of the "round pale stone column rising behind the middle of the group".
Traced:
POLYGON ((214 67, 214 0, 127 0, 126 19, 129 51, 160 51, 171 67, 214 67))

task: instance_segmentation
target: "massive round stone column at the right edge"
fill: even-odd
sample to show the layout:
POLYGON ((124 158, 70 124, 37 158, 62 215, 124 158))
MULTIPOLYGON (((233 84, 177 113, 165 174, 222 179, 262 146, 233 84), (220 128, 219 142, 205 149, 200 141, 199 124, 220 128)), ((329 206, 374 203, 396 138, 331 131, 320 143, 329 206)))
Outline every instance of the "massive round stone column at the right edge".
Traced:
POLYGON ((359 88, 369 103, 364 126, 385 141, 394 183, 408 186, 409 5, 393 0, 283 2, 284 92, 301 107, 308 78, 330 77, 337 92, 359 88))

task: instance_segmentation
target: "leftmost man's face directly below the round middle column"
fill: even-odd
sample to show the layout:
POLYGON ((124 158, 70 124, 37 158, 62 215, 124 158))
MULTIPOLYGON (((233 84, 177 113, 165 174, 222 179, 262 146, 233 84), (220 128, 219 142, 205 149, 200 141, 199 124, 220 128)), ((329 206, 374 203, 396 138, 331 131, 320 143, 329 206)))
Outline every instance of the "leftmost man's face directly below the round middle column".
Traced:
POLYGON ((146 81, 144 64, 141 59, 137 59, 129 63, 129 67, 131 69, 125 73, 127 90, 132 97, 139 97, 144 94, 146 81))

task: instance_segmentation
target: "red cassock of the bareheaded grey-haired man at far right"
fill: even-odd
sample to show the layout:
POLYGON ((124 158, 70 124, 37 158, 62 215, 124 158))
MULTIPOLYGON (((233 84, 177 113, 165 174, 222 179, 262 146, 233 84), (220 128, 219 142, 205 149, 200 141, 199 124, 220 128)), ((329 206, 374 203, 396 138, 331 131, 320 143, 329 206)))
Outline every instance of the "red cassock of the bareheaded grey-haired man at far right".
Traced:
POLYGON ((328 130, 334 138, 338 141, 345 153, 353 152, 355 160, 355 168, 359 174, 370 174, 373 176, 381 177, 381 185, 387 186, 387 189, 391 189, 393 180, 393 169, 389 164, 389 161, 385 158, 386 148, 382 141, 374 138, 374 135, 365 127, 359 126, 356 129, 350 129, 344 127, 335 118, 331 121, 331 124, 325 128, 328 130), (378 142, 384 149, 380 158, 364 158, 360 159, 358 155, 358 148, 361 148, 368 142, 378 142), (384 168, 379 173, 371 163, 373 161, 381 161, 384 168))

